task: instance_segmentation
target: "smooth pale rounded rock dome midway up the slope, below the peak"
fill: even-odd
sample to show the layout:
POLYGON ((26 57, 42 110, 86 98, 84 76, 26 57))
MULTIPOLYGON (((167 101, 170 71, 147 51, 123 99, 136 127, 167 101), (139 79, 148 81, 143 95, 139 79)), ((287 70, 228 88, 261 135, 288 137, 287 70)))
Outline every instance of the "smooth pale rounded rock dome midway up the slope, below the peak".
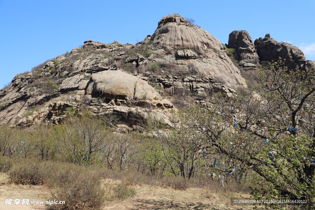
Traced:
MULTIPOLYGON (((76 76, 73 76, 76 77, 76 76)), ((72 77, 67 78, 69 81, 72 77)), ((129 105, 131 101, 126 98, 135 99, 137 107, 151 107, 153 109, 173 108, 173 104, 157 93, 145 80, 139 77, 127 74, 122 71, 101 71, 90 76, 90 80, 82 80, 76 84, 77 88, 72 89, 75 99, 82 97, 87 99, 98 98, 107 101, 111 105, 129 105)), ((61 84, 62 86, 62 84, 61 84)), ((75 86, 75 85, 72 85, 75 86)))

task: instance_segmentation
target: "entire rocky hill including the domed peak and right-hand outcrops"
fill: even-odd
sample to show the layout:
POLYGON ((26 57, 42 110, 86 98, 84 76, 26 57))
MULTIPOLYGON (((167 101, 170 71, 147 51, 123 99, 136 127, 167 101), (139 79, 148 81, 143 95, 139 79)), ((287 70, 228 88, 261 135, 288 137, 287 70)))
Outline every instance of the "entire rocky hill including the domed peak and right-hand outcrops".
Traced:
POLYGON ((232 95, 235 88, 247 88, 240 66, 255 72, 260 61, 279 56, 300 68, 313 62, 267 35, 254 45, 247 31, 233 31, 227 47, 235 49, 239 63, 218 39, 177 14, 163 17, 153 35, 135 45, 85 41, 1 89, 0 123, 58 124, 82 106, 96 115, 117 115, 129 126, 148 113, 168 122, 168 113, 183 100, 206 103, 215 92, 232 95))

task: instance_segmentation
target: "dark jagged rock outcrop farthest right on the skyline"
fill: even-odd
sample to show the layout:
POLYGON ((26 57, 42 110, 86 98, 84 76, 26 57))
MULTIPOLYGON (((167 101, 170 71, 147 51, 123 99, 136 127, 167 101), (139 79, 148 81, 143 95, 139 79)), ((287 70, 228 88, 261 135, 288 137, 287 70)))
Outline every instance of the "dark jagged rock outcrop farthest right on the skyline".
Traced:
POLYGON ((270 34, 266 34, 264 38, 258 38, 254 42, 257 54, 261 61, 285 59, 285 65, 289 69, 295 69, 298 66, 300 69, 308 69, 314 61, 306 61, 303 52, 286 42, 277 42, 270 38, 270 34))

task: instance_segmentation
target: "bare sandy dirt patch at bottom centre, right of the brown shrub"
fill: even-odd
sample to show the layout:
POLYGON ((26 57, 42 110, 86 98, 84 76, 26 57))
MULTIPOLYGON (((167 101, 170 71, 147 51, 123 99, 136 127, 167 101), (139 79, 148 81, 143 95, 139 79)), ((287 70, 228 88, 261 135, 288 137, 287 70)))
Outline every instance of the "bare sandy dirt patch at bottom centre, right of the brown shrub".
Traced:
POLYGON ((250 209, 236 207, 229 204, 229 199, 217 194, 209 197, 206 189, 188 188, 187 190, 174 190, 157 186, 134 186, 137 194, 124 201, 107 202, 104 210, 155 210, 155 209, 192 209, 192 210, 241 210, 250 209))

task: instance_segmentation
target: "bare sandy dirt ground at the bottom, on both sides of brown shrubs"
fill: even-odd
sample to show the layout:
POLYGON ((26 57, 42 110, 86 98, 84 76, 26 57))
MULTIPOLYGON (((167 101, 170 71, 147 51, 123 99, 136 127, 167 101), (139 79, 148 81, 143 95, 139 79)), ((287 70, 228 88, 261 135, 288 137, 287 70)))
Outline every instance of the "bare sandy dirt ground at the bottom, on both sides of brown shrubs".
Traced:
MULTIPOLYGON (((104 182, 108 183, 110 180, 104 182)), ((114 181, 116 182, 116 181, 114 181)), ((104 210, 136 210, 136 209, 213 209, 213 210, 245 210, 250 207, 232 206, 229 198, 220 193, 209 193, 204 188, 188 188, 175 190, 142 184, 133 186, 136 191, 134 197, 123 201, 106 201, 104 210)), ((5 173, 0 173, 0 209, 47 209, 44 205, 5 205, 5 199, 30 199, 30 201, 49 200, 49 192, 45 186, 9 184, 5 173)))

